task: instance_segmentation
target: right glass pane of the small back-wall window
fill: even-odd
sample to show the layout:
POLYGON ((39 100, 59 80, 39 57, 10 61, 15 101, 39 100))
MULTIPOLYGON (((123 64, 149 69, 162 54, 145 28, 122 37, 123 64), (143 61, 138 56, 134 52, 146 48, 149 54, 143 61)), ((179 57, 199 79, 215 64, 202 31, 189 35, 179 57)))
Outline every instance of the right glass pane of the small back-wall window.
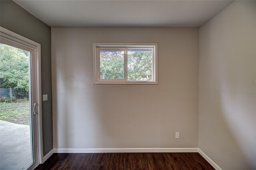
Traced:
POLYGON ((128 80, 152 80, 152 49, 128 49, 128 80))

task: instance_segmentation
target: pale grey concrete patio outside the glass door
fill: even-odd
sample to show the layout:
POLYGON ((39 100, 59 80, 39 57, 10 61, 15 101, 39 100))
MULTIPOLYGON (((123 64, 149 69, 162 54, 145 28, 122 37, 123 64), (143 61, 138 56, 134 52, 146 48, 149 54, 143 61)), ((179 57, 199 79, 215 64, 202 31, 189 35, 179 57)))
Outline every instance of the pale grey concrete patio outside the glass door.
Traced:
POLYGON ((0 120, 0 170, 22 170, 30 164, 29 125, 0 120))

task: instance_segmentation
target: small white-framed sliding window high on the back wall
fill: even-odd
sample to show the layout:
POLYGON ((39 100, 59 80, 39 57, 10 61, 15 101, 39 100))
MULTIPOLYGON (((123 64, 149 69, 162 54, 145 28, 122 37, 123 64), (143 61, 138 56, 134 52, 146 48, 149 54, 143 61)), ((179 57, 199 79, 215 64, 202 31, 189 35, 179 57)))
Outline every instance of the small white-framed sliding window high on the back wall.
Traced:
POLYGON ((93 43, 94 84, 158 84, 157 44, 93 43))

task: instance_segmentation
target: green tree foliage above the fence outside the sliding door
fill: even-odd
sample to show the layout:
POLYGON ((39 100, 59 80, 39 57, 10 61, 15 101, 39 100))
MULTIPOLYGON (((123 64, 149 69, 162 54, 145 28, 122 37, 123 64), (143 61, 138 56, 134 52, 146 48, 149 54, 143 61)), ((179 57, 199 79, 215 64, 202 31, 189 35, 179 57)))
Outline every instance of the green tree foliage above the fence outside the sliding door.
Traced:
POLYGON ((2 86, 25 89, 28 92, 28 56, 28 51, 0 44, 2 86))

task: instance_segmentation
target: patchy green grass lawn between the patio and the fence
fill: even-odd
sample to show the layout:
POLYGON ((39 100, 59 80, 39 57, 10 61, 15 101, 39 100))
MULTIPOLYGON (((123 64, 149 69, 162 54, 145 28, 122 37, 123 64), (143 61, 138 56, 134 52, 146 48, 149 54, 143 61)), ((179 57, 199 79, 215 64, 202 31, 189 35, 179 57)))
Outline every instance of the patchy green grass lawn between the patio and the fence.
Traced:
POLYGON ((29 125, 29 102, 0 102, 0 120, 29 125))

